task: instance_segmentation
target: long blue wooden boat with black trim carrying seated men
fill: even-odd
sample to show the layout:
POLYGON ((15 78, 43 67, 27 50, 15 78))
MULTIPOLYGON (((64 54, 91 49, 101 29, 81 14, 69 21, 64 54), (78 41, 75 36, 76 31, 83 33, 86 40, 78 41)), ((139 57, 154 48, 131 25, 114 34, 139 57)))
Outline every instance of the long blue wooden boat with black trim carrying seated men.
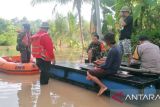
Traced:
MULTIPOLYGON (((91 68, 93 66, 87 64, 59 63, 52 66, 50 75, 53 78, 98 91, 93 82, 86 80, 86 71, 91 68)), ((158 75, 132 75, 129 72, 123 73, 125 68, 122 68, 123 70, 120 70, 119 73, 101 79, 110 92, 122 92, 125 95, 156 93, 157 86, 160 86, 157 85, 160 81, 158 75)))

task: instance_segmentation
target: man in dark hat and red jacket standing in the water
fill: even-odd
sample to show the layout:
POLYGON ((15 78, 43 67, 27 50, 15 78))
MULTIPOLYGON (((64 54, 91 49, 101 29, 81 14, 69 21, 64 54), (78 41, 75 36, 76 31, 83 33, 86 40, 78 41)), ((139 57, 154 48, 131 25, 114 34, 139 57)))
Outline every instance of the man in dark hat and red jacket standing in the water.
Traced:
POLYGON ((32 36, 32 55, 41 70, 40 84, 48 84, 51 63, 55 64, 54 46, 48 34, 49 24, 43 22, 40 30, 32 36))

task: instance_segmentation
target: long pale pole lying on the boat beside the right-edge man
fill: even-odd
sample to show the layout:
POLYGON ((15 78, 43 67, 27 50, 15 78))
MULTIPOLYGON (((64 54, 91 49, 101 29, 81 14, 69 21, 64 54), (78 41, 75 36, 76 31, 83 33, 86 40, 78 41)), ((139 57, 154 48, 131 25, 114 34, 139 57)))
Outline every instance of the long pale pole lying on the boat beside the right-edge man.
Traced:
POLYGON ((150 73, 150 74, 158 74, 158 75, 160 75, 160 71, 153 71, 153 70, 148 70, 148 69, 135 69, 135 68, 129 68, 129 67, 120 66, 120 70, 125 70, 127 72, 150 73))

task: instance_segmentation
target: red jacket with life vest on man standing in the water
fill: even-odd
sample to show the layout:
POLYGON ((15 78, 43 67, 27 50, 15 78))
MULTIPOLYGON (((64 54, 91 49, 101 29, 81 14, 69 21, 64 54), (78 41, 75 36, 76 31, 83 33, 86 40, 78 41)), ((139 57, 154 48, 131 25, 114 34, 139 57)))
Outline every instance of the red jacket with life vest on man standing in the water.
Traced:
POLYGON ((42 59, 44 58, 44 60, 46 61, 51 61, 55 59, 54 45, 51 37, 46 31, 40 30, 31 37, 31 41, 32 54, 34 57, 42 59))

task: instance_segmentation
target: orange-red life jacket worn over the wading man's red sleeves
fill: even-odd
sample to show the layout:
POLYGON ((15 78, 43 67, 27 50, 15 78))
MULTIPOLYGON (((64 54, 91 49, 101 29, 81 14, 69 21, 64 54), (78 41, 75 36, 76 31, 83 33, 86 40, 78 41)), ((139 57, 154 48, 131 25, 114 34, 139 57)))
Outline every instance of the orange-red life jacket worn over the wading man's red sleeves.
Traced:
POLYGON ((41 45, 41 38, 48 33, 43 33, 41 35, 35 34, 32 36, 32 55, 35 58, 42 58, 45 61, 51 61, 46 49, 41 45))

